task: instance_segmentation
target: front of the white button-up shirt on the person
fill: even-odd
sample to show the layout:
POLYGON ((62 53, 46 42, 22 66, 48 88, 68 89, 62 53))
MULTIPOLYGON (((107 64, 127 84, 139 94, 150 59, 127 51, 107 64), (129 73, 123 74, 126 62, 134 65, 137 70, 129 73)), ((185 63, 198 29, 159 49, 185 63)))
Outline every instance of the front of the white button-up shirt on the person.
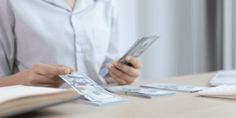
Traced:
MULTIPOLYGON (((98 73, 110 46, 113 6, 110 2, 95 3, 93 0, 81 0, 81 6, 77 6, 76 0, 66 1, 0 0, 0 11, 14 16, 15 20, 15 38, 7 34, 3 42, 7 45, 4 50, 11 55, 0 59, 14 58, 6 62, 15 63, 19 71, 37 63, 63 64, 101 83, 103 80, 98 80, 98 73), (73 11, 66 1, 71 3, 71 8, 75 6, 73 11)), ((2 19, 10 21, 8 17, 2 19)), ((2 27, 13 31, 7 25, 2 27)), ((0 36, 5 35, 0 32, 0 36)), ((119 55, 112 53, 115 53, 112 57, 119 55)))

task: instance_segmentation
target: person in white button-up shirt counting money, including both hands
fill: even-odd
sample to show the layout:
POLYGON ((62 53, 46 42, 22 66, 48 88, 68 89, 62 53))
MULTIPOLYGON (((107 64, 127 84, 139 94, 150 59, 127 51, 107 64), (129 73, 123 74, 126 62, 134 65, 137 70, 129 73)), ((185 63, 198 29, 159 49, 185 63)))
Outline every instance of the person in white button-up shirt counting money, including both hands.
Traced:
POLYGON ((72 71, 99 84, 130 84, 141 64, 113 61, 119 47, 112 0, 0 1, 0 86, 60 87, 58 75, 72 71))

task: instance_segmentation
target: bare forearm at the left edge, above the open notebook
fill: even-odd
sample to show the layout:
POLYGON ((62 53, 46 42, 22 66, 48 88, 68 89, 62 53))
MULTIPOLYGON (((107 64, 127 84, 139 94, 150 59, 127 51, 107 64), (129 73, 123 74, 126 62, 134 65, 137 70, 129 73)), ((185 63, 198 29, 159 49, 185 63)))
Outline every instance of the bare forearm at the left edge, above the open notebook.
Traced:
POLYGON ((28 72, 19 72, 14 75, 0 77, 0 87, 12 86, 12 85, 24 85, 25 79, 27 78, 28 72))

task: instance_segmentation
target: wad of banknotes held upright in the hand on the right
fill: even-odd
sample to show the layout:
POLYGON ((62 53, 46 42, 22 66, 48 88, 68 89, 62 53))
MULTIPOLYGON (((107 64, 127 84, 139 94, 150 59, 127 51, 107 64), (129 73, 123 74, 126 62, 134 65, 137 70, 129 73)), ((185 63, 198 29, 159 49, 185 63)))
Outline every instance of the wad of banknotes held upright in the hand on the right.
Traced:
MULTIPOLYGON (((122 64, 126 64, 129 66, 132 66, 132 64, 130 64, 129 62, 127 62, 125 60, 126 56, 132 56, 132 57, 139 57, 145 50, 147 50, 155 41, 157 41, 157 39, 159 39, 159 36, 148 36, 148 37, 143 37, 141 39, 138 39, 132 46, 131 48, 127 51, 127 53, 124 54, 124 56, 122 56, 119 59, 119 62, 122 64)), ((103 73, 104 77, 109 76, 108 74, 108 70, 105 69, 103 70, 103 72, 105 71, 105 73, 103 73)))

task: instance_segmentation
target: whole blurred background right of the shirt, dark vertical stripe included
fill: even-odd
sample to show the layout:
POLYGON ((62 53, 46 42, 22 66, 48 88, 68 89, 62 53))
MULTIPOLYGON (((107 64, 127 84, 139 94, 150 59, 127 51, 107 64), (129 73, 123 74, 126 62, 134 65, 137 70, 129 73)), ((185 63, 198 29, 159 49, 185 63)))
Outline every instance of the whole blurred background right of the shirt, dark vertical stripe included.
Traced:
POLYGON ((234 0, 117 0, 125 52, 142 36, 160 40, 142 55, 142 78, 236 67, 234 0))

